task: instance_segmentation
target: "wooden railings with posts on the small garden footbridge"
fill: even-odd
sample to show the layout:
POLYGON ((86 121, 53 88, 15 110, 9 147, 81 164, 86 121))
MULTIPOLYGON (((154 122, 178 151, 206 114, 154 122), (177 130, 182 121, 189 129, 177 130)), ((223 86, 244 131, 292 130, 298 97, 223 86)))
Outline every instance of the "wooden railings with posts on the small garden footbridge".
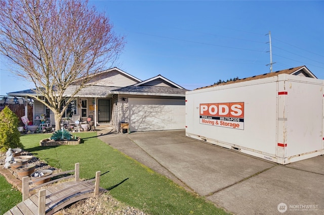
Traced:
MULTIPOLYGON (((43 186, 53 184, 55 182, 59 182, 59 181, 62 181, 62 180, 74 178, 74 181, 77 182, 77 183, 75 183, 73 185, 68 185, 65 188, 60 189, 59 191, 57 191, 55 193, 51 193, 50 195, 46 196, 46 189, 41 189, 41 190, 38 191, 38 214, 39 215, 46 214, 48 211, 52 210, 54 207, 59 205, 60 202, 64 201, 64 199, 71 199, 71 197, 74 197, 76 195, 82 195, 84 193, 89 193, 89 192, 94 192, 94 195, 99 194, 100 174, 101 174, 101 172, 98 171, 98 172, 96 172, 95 179, 91 179, 91 180, 87 180, 87 181, 79 181, 79 163, 76 163, 75 167, 74 167, 74 170, 69 170, 69 171, 49 175, 49 176, 46 176, 46 177, 41 177, 41 178, 39 178, 39 179, 37 179, 35 181, 32 181, 32 182, 29 182, 29 177, 24 177, 22 179, 22 200, 24 201, 24 200, 28 199, 29 195, 30 195, 30 192, 35 190, 35 189, 38 189, 38 188, 41 188, 43 186), (32 188, 29 189, 29 185, 31 185, 33 183, 36 183, 38 181, 45 180, 45 179, 48 179, 48 178, 53 178, 53 177, 64 175, 64 174, 71 174, 71 173, 72 174, 74 173, 74 175, 65 176, 65 177, 62 177, 62 178, 59 178, 59 179, 55 179, 55 180, 49 181, 47 183, 44 183, 44 184, 41 184, 41 185, 38 185, 38 186, 35 186, 35 187, 32 187, 32 188), (89 186, 89 184, 91 182, 95 182, 95 183, 93 185, 89 186), (88 184, 86 187, 85 186, 79 186, 79 185, 86 185, 86 184, 88 184), (68 192, 68 194, 63 195, 60 198, 56 198, 55 200, 52 200, 51 202, 46 204, 46 199, 47 198, 50 198, 50 197, 55 196, 57 194, 63 193, 64 191, 66 191, 68 189, 76 188, 77 186, 78 186, 78 188, 75 189, 76 191, 68 192), (80 188, 80 187, 82 187, 82 188, 80 188), (53 205, 53 204, 54 204, 54 206, 52 206, 48 210, 46 210, 47 206, 49 207, 49 205, 53 205)), ((71 200, 71 201, 73 201, 73 200, 71 200)), ((72 203, 72 202, 70 202, 70 203, 72 203)))

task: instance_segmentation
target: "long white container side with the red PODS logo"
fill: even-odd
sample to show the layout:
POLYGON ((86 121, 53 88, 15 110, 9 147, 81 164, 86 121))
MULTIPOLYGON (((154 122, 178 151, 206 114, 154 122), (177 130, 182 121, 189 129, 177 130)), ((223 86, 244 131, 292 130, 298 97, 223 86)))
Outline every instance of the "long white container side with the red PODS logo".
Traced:
POLYGON ((186 133, 275 155, 276 83, 260 80, 246 86, 188 93, 186 133), (244 104, 243 113, 237 106, 240 104, 244 104), (231 110, 232 114, 228 113, 231 110), (235 123, 236 116, 239 123, 235 123))

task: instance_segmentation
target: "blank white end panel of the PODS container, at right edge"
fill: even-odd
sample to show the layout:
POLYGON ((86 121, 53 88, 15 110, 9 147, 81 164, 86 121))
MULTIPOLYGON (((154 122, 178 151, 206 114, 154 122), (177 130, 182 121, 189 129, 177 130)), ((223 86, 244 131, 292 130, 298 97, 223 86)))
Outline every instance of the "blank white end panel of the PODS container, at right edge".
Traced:
POLYGON ((289 81, 287 155, 322 149, 323 86, 289 81))

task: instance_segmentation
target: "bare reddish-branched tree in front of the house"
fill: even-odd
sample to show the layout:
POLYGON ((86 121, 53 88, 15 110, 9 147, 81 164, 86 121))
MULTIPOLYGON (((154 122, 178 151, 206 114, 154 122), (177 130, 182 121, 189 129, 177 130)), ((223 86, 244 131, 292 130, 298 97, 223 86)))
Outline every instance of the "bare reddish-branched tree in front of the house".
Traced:
POLYGON ((35 95, 60 119, 86 83, 124 48, 104 13, 82 0, 0 0, 0 51, 12 71, 35 85, 35 95), (64 91, 76 83, 69 97, 64 91), (67 100, 66 100, 67 99, 67 100), (61 109, 63 102, 65 106, 61 109))

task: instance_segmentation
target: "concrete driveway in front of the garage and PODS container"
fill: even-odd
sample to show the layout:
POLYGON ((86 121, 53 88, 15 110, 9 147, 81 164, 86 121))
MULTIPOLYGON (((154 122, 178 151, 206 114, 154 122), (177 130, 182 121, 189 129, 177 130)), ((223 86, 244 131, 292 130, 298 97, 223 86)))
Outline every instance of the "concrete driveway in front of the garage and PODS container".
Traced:
POLYGON ((324 214, 324 156, 282 166, 191 139, 185 130, 99 138, 234 214, 324 214))

